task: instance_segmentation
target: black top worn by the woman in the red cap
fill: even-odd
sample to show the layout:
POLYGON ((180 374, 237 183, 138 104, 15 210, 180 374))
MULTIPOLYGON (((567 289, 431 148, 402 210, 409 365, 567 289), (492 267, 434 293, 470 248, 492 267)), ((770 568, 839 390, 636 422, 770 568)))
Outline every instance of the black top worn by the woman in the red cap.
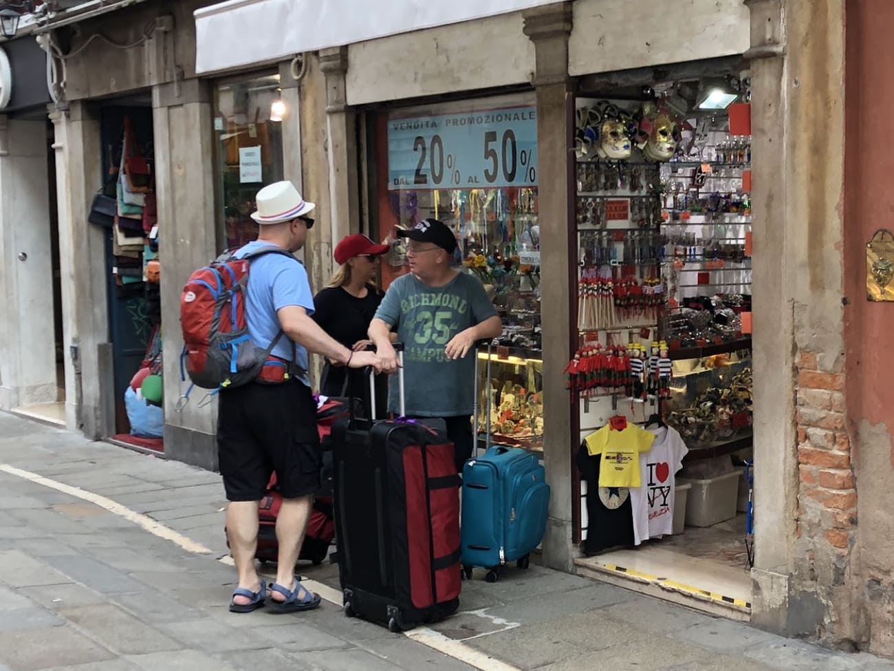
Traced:
MULTIPOLYGON (((346 292, 341 286, 330 286, 314 296, 314 320, 329 335, 345 347, 352 347, 358 340, 367 340, 369 322, 375 317, 375 310, 382 302, 382 294, 370 286, 367 295, 358 298, 346 292)), ((323 370, 323 384, 320 393, 327 396, 353 395, 367 399, 369 380, 362 371, 352 377, 352 385, 356 385, 351 393, 344 386, 345 369, 342 366, 330 366, 326 362, 323 370), (344 390, 344 393, 342 393, 344 390)), ((376 396, 381 398, 377 403, 377 417, 384 418, 385 398, 387 396, 387 376, 378 376, 376 396)))

